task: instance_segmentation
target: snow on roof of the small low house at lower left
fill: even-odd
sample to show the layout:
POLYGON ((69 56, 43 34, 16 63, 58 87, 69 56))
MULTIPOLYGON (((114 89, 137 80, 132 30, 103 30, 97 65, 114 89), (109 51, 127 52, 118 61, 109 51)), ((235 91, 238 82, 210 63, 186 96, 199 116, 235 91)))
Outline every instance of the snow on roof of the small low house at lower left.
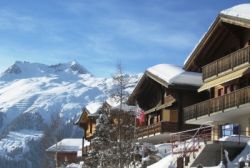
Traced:
MULTIPOLYGON (((89 141, 84 140, 84 146, 89 146, 89 141)), ((57 142, 47 149, 48 152, 77 152, 82 148, 81 138, 68 138, 57 142)))

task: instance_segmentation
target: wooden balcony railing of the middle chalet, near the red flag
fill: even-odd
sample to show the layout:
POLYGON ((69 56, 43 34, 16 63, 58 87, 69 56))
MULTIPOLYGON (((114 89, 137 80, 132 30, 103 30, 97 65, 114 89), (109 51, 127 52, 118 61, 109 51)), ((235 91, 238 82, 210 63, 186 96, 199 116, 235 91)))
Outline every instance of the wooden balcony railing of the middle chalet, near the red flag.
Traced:
POLYGON ((157 133, 176 132, 178 130, 177 123, 162 121, 149 126, 138 127, 136 130, 137 138, 149 137, 157 133))

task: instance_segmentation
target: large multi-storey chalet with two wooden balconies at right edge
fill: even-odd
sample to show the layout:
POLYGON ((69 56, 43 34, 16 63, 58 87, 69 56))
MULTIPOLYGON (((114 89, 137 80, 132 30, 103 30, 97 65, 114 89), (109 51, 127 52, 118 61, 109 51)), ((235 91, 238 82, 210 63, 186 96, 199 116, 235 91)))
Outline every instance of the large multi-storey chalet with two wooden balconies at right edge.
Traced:
POLYGON ((250 4, 223 10, 185 61, 201 72, 205 101, 184 108, 187 124, 213 125, 212 138, 250 136, 250 4))

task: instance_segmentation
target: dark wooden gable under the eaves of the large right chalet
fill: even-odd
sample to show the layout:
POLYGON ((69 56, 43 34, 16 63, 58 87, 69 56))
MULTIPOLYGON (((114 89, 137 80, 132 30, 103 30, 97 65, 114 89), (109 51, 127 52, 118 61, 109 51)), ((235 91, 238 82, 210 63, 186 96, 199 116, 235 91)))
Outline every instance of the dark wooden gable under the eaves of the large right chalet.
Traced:
POLYGON ((184 63, 187 71, 201 72, 204 65, 245 47, 250 20, 220 14, 184 63))

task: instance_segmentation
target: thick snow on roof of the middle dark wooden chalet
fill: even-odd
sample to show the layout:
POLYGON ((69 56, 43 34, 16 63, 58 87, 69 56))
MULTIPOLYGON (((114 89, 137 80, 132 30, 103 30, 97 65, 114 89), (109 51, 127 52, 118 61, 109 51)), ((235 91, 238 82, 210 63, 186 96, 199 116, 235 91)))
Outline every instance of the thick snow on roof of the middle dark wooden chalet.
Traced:
POLYGON ((158 64, 147 69, 147 72, 159 77, 168 84, 201 86, 201 73, 187 72, 181 67, 170 64, 158 64))

